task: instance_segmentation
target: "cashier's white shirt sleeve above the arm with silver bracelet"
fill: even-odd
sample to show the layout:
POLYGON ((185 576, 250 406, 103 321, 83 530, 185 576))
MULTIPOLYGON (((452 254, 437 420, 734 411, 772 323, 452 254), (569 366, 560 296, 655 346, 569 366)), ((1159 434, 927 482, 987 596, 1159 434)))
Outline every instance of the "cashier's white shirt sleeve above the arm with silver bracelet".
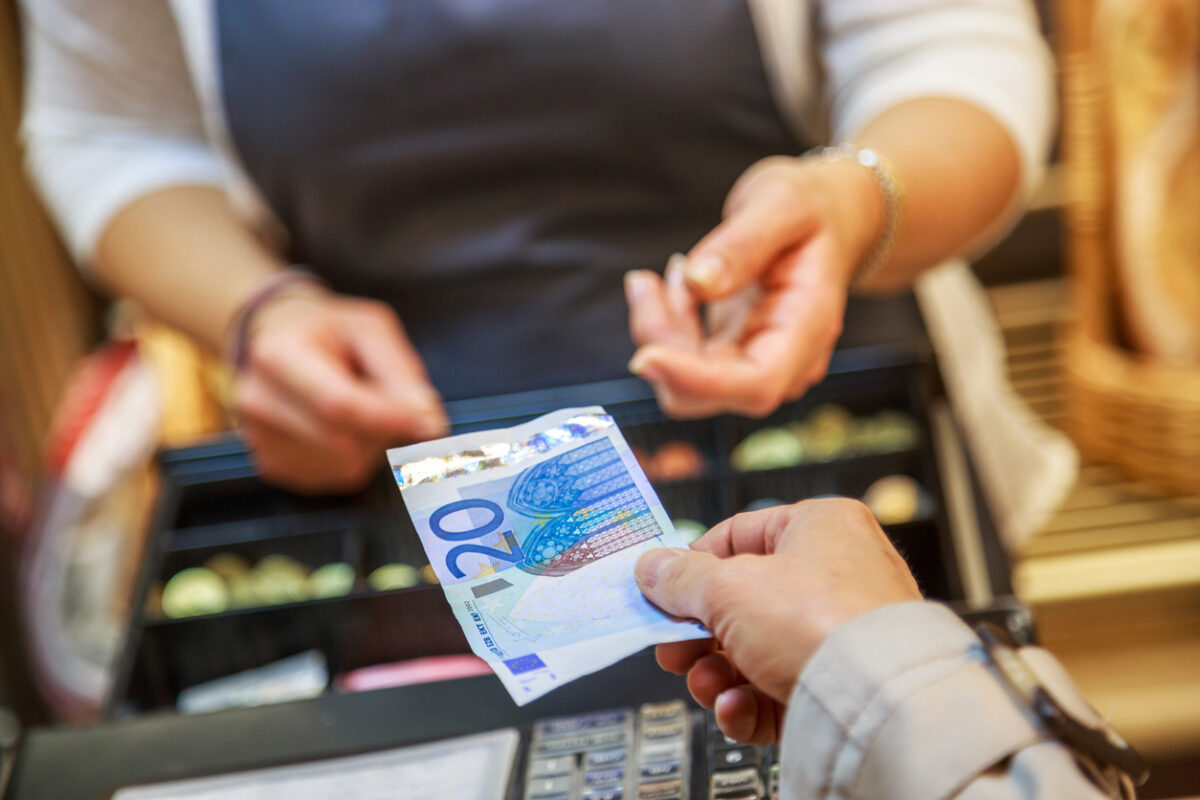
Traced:
POLYGON ((834 142, 902 102, 960 100, 1008 132, 1021 160, 1016 200, 1028 198, 1055 122, 1054 60, 1028 0, 817 2, 834 142))

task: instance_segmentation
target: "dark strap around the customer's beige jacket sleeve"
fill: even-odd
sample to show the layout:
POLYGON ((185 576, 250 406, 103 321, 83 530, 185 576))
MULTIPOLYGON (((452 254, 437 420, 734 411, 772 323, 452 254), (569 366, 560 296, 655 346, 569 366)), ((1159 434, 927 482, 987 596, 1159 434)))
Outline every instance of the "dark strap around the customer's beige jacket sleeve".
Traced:
POLYGON ((1150 771, 1129 742, 1106 722, 1085 722, 1070 714, 1021 656, 1020 645, 1008 631, 991 622, 980 622, 974 631, 1013 694, 1051 735, 1076 754, 1085 771, 1103 786, 1120 792, 1118 796, 1133 798, 1133 787, 1145 783, 1150 771))

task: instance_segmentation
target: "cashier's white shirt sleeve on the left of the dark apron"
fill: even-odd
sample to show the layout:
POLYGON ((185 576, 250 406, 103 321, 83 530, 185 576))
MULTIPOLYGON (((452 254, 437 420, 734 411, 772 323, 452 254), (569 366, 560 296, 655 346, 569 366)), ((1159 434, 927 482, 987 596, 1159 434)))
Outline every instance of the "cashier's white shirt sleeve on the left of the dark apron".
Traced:
POLYGON ((22 11, 28 167, 77 260, 138 197, 224 185, 167 2, 23 0, 22 11))

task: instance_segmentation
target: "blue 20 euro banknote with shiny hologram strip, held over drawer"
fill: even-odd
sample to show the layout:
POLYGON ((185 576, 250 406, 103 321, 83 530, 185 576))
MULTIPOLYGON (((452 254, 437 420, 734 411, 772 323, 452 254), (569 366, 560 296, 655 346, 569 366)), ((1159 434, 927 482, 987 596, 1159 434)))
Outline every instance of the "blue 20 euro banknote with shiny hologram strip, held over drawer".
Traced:
POLYGON ((686 547, 600 407, 388 451, 472 650, 518 705, 650 644, 708 636, 634 581, 686 547))

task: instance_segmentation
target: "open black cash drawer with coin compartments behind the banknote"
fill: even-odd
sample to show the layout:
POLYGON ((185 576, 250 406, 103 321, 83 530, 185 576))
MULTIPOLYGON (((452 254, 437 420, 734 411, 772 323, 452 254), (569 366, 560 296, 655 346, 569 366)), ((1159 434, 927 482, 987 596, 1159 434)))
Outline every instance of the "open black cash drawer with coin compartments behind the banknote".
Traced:
MULTIPOLYGON (((604 404, 631 445, 653 451, 688 441, 703 455, 703 474, 659 482, 673 518, 710 525, 763 500, 822 494, 860 497, 878 477, 902 474, 928 503, 905 524, 887 527, 924 591, 962 599, 954 545, 942 503, 942 480, 930 437, 932 367, 924 362, 830 374, 798 403, 763 420, 662 417, 644 384, 620 380, 527 396, 452 403, 456 432, 503 427, 568 405, 604 404), (803 420, 822 403, 856 416, 895 410, 911 415, 918 435, 894 452, 838 457, 785 469, 738 473, 732 449, 755 429, 803 420)), ((382 456, 380 456, 382 458, 382 456)), ((222 440, 162 455, 163 492, 140 571, 136 614, 119 666, 109 712, 122 715, 175 704, 197 684, 316 649, 331 675, 418 656, 468 652, 437 585, 373 591, 365 576, 383 564, 424 565, 420 541, 391 476, 382 474, 353 497, 302 498, 263 485, 244 447, 222 440), (344 596, 168 619, 157 607, 162 584, 218 553, 247 563, 284 554, 308 569, 350 564, 358 578, 344 596)))

